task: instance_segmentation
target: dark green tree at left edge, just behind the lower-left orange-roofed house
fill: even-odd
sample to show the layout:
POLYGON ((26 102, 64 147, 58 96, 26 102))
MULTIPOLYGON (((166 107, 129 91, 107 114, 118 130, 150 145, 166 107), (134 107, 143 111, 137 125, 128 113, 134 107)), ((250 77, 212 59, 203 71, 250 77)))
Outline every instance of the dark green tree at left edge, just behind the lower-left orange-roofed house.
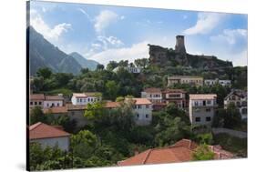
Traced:
POLYGON ((47 122, 47 117, 40 106, 35 106, 30 111, 30 125, 36 124, 37 122, 47 122))

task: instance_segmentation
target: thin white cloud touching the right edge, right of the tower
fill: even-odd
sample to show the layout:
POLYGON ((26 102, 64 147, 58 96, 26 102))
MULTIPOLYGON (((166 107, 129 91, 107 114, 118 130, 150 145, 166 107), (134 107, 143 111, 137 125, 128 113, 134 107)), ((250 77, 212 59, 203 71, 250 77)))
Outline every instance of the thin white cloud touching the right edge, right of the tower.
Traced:
POLYGON ((211 41, 228 43, 235 45, 241 40, 247 41, 247 30, 245 29, 225 29, 220 35, 210 36, 211 41))

